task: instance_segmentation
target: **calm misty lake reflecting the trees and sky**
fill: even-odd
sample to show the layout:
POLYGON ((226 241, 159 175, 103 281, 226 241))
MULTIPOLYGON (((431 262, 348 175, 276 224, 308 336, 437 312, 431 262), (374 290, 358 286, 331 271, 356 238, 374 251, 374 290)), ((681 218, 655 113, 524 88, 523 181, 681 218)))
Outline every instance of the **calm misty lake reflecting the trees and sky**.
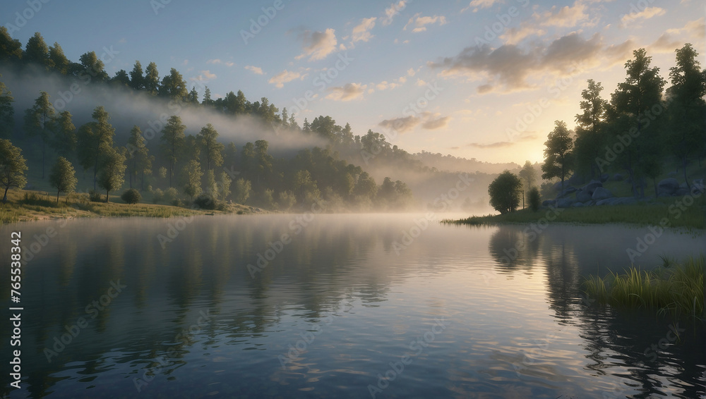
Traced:
MULTIPOLYGON (((602 309, 580 293, 588 274, 629 266, 628 249, 648 268, 698 256, 704 235, 526 228, 421 214, 2 226, 4 243, 21 231, 31 259, 20 303, 7 285, 0 294, 23 307, 22 388, 8 380, 0 393, 706 398, 704 324, 602 309)), ((6 362, 13 315, 0 316, 6 362)))

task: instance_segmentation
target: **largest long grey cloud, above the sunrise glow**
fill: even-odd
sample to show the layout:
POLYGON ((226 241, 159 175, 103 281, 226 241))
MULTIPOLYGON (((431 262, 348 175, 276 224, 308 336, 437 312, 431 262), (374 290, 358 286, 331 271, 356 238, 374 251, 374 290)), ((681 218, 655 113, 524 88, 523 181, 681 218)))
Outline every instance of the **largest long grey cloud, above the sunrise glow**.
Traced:
POLYGON ((613 65, 624 61, 625 47, 632 42, 605 47, 599 33, 590 39, 573 32, 559 37, 549 45, 534 44, 520 49, 515 44, 503 44, 497 49, 488 45, 463 49, 457 56, 430 62, 431 68, 441 69, 445 77, 465 76, 468 80, 486 80, 479 92, 493 90, 513 92, 531 89, 527 78, 544 73, 575 73, 578 66, 613 65))

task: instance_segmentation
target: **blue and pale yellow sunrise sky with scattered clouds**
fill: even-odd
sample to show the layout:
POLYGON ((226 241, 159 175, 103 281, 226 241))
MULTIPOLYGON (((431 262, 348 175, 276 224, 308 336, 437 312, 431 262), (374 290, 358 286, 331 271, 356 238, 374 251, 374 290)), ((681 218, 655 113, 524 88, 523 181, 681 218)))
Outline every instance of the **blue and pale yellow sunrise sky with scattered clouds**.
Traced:
POLYGON ((74 62, 107 54, 111 76, 154 61, 160 79, 177 68, 199 94, 267 97, 300 125, 329 115, 408 152, 517 164, 542 161, 554 121, 575 126, 588 79, 609 99, 633 50, 669 80, 691 43, 704 68, 705 15, 700 0, 0 4, 23 46, 40 32, 74 62))

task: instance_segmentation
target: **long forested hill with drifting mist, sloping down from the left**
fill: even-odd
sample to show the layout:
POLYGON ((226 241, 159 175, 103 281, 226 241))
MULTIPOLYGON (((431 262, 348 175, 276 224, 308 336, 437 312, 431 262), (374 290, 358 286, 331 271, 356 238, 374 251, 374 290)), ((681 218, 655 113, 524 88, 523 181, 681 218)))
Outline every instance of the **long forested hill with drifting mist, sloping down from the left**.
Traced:
POLYGON ((110 77, 105 56, 68 60, 40 33, 23 48, 0 27, 0 135, 23 150, 30 187, 50 191, 49 172, 63 156, 80 178, 77 190, 136 188, 155 202, 208 194, 285 211, 321 199, 330 211, 486 207, 494 176, 476 172, 493 171, 488 164, 455 159, 459 170, 446 162, 448 171, 438 171, 433 157, 371 130, 356 135, 330 116, 298 121, 239 90, 213 99, 175 68, 160 76, 155 63, 136 61, 110 77), (473 184, 440 201, 461 172, 473 184))

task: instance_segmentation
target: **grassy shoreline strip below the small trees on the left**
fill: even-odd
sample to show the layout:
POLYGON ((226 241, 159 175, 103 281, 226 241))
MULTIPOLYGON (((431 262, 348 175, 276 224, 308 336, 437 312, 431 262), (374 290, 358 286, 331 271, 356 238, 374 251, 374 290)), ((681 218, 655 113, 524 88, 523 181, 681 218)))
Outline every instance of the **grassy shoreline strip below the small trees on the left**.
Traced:
POLYGON ((8 203, 0 202, 0 225, 20 221, 33 221, 52 218, 71 217, 107 217, 107 216, 143 216, 168 218, 203 214, 250 213, 249 207, 239 204, 227 204, 224 211, 208 211, 174 207, 162 204, 126 204, 119 197, 111 196, 111 202, 66 202, 56 195, 33 190, 8 191, 8 203))

